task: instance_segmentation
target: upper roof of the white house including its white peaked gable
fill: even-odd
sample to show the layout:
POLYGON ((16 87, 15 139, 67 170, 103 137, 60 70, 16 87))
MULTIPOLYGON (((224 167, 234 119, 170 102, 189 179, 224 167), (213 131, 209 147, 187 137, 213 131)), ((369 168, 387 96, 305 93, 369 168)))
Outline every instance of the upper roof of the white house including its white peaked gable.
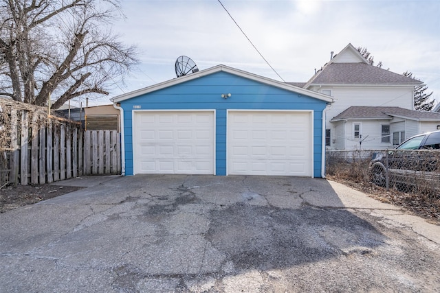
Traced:
POLYGON ((360 52, 349 44, 318 71, 304 86, 341 84, 417 85, 419 80, 408 78, 370 65, 360 52))

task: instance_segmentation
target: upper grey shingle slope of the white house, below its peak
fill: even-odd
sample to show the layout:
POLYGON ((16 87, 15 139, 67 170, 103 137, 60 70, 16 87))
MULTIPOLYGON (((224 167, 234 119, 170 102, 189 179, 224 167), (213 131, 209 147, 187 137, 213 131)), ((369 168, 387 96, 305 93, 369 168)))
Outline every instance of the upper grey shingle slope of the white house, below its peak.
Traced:
POLYGON ((365 63, 330 63, 307 84, 421 84, 408 78, 365 63))

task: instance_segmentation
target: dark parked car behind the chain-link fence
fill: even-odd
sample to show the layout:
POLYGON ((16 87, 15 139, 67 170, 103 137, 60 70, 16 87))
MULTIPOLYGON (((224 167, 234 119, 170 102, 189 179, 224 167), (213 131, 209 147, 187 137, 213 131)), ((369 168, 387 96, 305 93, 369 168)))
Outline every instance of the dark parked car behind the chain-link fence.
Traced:
POLYGON ((371 180, 376 185, 388 183, 439 185, 440 131, 416 135, 395 150, 375 152, 369 165, 371 180), (387 178, 388 174, 388 178, 387 178))

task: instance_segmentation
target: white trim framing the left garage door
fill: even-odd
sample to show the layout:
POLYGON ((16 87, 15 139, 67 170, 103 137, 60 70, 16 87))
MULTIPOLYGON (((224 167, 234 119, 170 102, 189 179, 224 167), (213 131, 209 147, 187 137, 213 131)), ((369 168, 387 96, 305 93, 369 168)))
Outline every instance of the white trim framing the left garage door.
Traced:
MULTIPOLYGON (((212 113, 212 174, 216 174, 216 110, 215 109, 148 109, 148 110, 132 110, 132 135, 135 132, 136 126, 133 124, 135 121, 135 115, 142 114, 142 113, 212 113)), ((137 156, 137 150, 135 148, 135 145, 137 144, 137 139, 139 139, 136 135, 133 135, 133 161, 135 160, 137 156)), ((135 165, 133 164, 133 175, 139 174, 139 170, 135 165)))

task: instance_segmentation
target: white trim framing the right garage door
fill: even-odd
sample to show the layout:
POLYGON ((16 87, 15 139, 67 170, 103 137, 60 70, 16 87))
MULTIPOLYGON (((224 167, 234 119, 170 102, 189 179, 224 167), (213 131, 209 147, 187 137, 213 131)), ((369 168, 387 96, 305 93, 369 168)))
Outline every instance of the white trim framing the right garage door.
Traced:
MULTIPOLYGON (((230 137, 230 131, 231 131, 231 126, 230 126, 230 113, 234 113, 234 112, 241 112, 241 113, 245 113, 245 112, 254 112, 254 113, 308 113, 309 114, 309 126, 310 126, 310 131, 311 134, 309 135, 309 146, 310 146, 310 161, 309 161, 309 166, 310 166, 310 170, 309 170, 309 174, 307 174, 306 176, 310 176, 311 178, 314 178, 314 110, 272 110, 272 109, 228 109, 226 112, 226 121, 228 121, 228 126, 226 129, 226 137, 227 140, 230 137)), ((227 141, 227 148, 226 148, 226 175, 230 174, 230 169, 229 169, 229 147, 230 147, 230 141, 227 141)))

